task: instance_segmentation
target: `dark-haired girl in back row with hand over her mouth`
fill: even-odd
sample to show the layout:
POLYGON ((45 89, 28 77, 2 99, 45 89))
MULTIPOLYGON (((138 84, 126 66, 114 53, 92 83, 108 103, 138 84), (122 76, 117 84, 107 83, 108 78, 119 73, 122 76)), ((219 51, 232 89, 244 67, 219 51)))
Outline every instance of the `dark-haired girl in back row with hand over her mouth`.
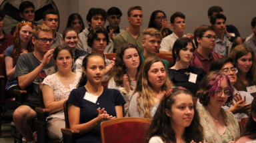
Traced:
POLYGON ((171 27, 171 24, 170 22, 167 22, 167 17, 165 13, 160 10, 153 11, 149 20, 148 28, 155 28, 159 30, 164 38, 173 33, 173 31, 171 31, 169 27, 171 27))

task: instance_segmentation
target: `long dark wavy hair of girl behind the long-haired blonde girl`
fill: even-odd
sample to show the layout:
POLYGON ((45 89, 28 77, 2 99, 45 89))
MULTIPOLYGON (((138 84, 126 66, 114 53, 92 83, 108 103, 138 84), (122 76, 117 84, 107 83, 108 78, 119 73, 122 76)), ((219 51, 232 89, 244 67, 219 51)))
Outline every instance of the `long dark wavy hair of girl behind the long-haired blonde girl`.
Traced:
MULTIPOLYGON (((126 67, 123 64, 123 55, 125 55, 126 49, 131 49, 131 48, 136 49, 139 56, 139 67, 137 67, 137 72, 139 72, 139 69, 143 63, 141 59, 141 55, 139 54, 139 50, 135 45, 132 45, 129 43, 125 43, 124 45, 122 45, 117 51, 117 57, 115 57, 115 65, 113 67, 113 70, 111 70, 111 74, 109 76, 109 79, 114 78, 115 84, 117 86, 123 87, 123 75, 127 74, 126 67)), ((137 76, 136 76, 136 80, 137 80, 137 76)))

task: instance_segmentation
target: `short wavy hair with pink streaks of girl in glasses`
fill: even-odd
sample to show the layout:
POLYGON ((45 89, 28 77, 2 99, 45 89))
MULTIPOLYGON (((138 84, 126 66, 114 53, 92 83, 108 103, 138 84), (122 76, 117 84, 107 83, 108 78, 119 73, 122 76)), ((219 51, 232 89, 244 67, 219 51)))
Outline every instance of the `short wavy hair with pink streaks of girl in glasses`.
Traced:
POLYGON ((210 98, 215 96, 217 88, 221 82, 225 80, 229 86, 230 95, 227 98, 227 101, 223 106, 230 106, 231 101, 233 100, 233 87, 229 81, 229 77, 219 71, 211 71, 203 77, 199 90, 197 91, 197 98, 203 106, 207 106, 210 102, 210 98))

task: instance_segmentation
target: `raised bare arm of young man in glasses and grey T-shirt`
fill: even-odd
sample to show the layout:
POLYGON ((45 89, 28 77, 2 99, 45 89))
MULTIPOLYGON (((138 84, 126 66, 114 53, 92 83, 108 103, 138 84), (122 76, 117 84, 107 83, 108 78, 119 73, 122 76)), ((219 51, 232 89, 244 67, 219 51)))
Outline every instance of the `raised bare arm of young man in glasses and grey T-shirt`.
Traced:
POLYGON ((42 63, 36 69, 34 69, 33 71, 31 71, 28 74, 25 74, 23 76, 18 76, 19 87, 21 89, 25 89, 27 86, 29 86, 33 82, 33 80, 35 80, 35 78, 37 78, 38 74, 43 70, 43 68, 48 65, 48 63, 51 60, 51 58, 53 57, 53 55, 51 55, 50 57, 48 57, 48 56, 53 51, 54 51, 54 49, 51 49, 51 50, 47 51, 47 53, 45 53, 42 63))

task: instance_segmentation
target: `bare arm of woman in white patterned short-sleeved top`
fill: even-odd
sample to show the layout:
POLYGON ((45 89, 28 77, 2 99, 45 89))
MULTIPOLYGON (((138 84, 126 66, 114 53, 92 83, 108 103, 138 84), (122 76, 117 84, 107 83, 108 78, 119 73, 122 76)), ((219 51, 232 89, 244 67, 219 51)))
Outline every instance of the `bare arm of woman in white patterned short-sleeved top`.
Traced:
POLYGON ((59 101, 55 101, 53 88, 50 86, 43 84, 42 88, 43 92, 43 102, 45 104, 45 108, 49 108, 50 113, 57 112, 63 109, 63 103, 67 98, 59 101))

